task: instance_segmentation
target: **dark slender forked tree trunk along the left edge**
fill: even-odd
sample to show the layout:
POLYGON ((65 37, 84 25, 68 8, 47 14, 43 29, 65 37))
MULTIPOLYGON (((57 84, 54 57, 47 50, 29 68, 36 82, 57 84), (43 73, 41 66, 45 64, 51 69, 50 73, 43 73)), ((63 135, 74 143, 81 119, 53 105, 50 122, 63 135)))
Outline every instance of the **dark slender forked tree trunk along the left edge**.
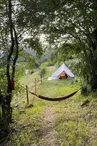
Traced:
POLYGON ((10 87, 10 81, 15 78, 15 64, 18 58, 18 37, 15 29, 15 25, 12 21, 12 0, 8 0, 8 18, 9 18, 9 35, 10 35, 10 48, 7 56, 7 67, 6 67, 6 76, 7 76, 7 93, 6 96, 3 96, 2 100, 2 120, 4 129, 9 132, 9 125, 12 120, 12 108, 11 108, 11 98, 12 98, 12 89, 10 87), (13 62, 11 57, 14 57, 13 62), (12 67, 12 71, 10 72, 12 67))

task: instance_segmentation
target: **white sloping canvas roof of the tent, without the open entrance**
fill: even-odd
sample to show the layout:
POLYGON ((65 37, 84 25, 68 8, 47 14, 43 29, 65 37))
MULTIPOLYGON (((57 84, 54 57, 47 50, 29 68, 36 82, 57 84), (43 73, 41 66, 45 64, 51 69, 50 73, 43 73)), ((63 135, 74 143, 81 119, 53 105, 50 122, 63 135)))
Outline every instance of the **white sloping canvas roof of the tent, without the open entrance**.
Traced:
POLYGON ((58 76, 60 76, 60 74, 62 72, 65 72, 67 74, 67 76, 73 78, 74 74, 67 68, 67 66, 63 63, 53 74, 52 74, 52 78, 56 78, 58 76))

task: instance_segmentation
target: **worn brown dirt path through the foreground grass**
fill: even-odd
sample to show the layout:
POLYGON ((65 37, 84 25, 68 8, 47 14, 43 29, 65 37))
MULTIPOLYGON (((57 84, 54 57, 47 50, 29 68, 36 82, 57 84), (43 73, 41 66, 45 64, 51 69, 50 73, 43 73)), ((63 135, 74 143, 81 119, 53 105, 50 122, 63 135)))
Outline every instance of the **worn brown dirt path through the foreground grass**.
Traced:
POLYGON ((43 115, 43 137, 44 146, 59 146, 56 138, 57 132, 54 128, 55 113, 51 107, 45 109, 43 115))

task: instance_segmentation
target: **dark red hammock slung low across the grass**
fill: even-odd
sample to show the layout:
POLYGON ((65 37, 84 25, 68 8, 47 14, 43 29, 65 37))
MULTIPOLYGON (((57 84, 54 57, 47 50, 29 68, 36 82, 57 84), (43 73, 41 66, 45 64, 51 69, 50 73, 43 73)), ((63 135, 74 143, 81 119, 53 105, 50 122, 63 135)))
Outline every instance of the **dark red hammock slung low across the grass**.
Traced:
POLYGON ((40 99, 43 99, 43 100, 48 100, 48 101, 61 101, 61 100, 65 100, 65 99, 68 99, 68 98, 74 96, 79 90, 80 89, 74 91, 73 93, 71 93, 71 94, 69 94, 67 96, 58 97, 58 98, 45 97, 45 96, 38 95, 38 94, 36 94, 34 92, 30 92, 30 91, 29 91, 29 93, 31 93, 31 94, 33 94, 33 95, 35 95, 35 96, 37 96, 37 97, 39 97, 40 99))

